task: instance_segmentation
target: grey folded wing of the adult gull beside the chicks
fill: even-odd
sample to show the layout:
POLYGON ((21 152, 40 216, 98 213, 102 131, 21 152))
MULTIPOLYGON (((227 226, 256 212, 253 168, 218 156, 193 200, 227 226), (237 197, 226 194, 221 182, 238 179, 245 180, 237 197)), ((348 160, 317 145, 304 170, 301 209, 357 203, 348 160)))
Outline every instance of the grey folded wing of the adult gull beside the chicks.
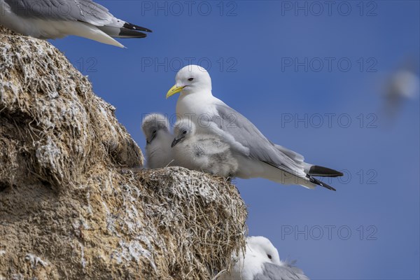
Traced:
MULTIPOLYGON (((218 116, 214 116, 212 121, 223 132, 232 135, 235 141, 248 148, 251 158, 266 162, 291 174, 296 175, 296 172, 299 172, 298 174, 303 175, 301 162, 293 160, 288 155, 291 155, 293 151, 272 144, 253 123, 223 102, 215 106, 218 116), (284 153, 286 150, 288 153, 284 153)), ((299 154, 293 152, 293 155, 299 158, 297 156, 299 154)))

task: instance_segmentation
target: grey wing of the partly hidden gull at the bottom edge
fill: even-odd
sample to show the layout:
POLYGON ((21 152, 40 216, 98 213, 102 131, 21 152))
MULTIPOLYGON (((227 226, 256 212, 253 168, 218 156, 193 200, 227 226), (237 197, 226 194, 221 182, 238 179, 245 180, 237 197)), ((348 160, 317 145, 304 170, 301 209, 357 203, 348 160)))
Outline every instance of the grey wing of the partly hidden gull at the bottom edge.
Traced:
POLYGON ((255 275, 253 280, 309 280, 309 278, 297 267, 265 262, 262 273, 255 275))

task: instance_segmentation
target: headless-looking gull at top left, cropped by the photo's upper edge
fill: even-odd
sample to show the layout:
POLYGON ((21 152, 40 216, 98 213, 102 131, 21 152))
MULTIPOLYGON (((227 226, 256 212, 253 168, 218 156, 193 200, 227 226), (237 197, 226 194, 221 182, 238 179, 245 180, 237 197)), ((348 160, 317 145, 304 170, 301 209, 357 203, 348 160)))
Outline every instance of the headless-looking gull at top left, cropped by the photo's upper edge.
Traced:
POLYGON ((0 25, 35 38, 68 35, 124 48, 113 38, 144 38, 150 29, 115 18, 92 0, 0 0, 0 25))

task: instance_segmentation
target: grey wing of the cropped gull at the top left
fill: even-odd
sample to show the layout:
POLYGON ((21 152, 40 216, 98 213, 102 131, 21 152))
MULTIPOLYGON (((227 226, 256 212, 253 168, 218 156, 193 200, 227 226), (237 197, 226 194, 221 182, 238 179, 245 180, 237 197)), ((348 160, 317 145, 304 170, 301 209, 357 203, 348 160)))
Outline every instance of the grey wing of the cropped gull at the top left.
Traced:
POLYGON ((92 25, 108 25, 113 15, 92 0, 3 0, 10 10, 22 18, 69 20, 92 25))

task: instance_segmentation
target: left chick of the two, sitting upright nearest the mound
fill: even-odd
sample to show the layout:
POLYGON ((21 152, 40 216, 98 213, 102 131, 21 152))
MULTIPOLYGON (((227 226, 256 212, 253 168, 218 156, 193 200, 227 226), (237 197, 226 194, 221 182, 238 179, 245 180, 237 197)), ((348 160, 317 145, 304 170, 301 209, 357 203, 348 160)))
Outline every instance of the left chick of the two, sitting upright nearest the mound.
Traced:
POLYGON ((144 118, 141 124, 146 137, 146 163, 149 169, 167 167, 172 164, 171 143, 174 136, 169 132, 169 120, 158 113, 144 118))

